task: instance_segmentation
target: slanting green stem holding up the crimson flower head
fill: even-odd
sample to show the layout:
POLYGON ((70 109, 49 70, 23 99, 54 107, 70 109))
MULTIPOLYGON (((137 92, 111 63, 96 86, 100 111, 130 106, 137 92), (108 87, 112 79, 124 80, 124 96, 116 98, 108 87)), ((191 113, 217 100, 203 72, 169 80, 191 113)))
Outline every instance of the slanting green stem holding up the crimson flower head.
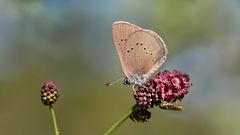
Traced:
POLYGON ((105 133, 104 135, 110 135, 114 130, 116 130, 124 121, 126 121, 129 116, 138 109, 137 105, 134 105, 131 110, 129 110, 125 115, 123 115, 116 123, 114 123, 105 133))

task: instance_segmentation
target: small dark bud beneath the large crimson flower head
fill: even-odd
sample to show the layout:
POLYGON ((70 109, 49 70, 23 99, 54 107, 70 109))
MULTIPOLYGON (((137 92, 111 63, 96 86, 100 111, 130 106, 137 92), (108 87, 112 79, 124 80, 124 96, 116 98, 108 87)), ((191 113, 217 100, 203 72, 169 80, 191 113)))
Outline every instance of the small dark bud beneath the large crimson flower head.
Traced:
POLYGON ((130 119, 134 122, 147 122, 151 118, 151 112, 147 109, 139 109, 132 113, 130 119))

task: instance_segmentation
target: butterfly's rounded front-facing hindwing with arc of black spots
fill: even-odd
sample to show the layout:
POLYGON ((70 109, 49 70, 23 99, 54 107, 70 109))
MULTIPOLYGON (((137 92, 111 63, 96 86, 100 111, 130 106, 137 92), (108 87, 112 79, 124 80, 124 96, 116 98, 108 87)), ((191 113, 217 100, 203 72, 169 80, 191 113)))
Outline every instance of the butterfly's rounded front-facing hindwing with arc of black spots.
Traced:
POLYGON ((121 59, 123 70, 132 82, 145 83, 165 62, 167 48, 160 36, 146 29, 129 35, 121 59))

